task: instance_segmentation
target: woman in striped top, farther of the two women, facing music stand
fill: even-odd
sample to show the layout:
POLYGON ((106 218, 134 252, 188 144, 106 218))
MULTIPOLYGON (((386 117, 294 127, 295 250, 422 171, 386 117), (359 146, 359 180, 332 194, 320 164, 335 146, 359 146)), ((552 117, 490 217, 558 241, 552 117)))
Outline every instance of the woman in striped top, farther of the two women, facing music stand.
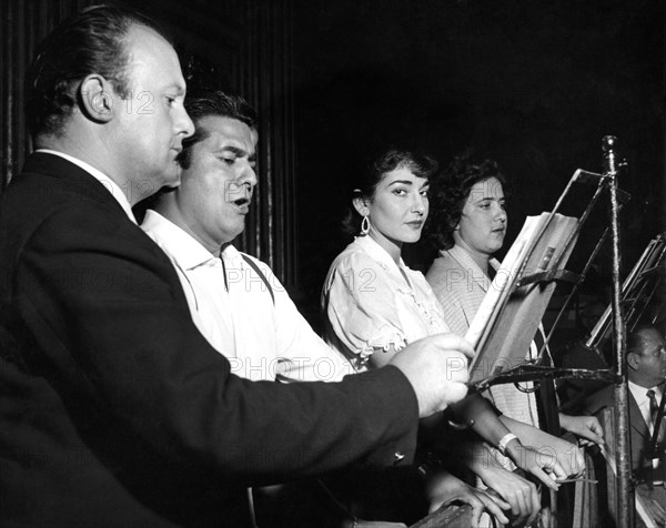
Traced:
MULTIPOLYGON (((446 323, 458 335, 465 335, 500 267, 494 254, 504 244, 508 220, 504 185, 496 162, 476 161, 470 154, 456 158, 433 184, 428 235, 440 255, 426 278, 442 304, 446 323)), ((533 343, 528 354, 535 353, 533 343)), ((538 427, 533 393, 506 384, 492 387, 490 394, 504 415, 538 427)), ((563 428, 584 441, 603 443, 596 418, 564 414, 559 418, 563 428)))

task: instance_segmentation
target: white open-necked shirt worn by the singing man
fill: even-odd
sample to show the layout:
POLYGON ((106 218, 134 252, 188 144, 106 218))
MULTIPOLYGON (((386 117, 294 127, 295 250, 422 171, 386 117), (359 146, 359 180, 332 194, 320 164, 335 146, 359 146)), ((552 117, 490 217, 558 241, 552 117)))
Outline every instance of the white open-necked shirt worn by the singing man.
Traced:
POLYGON ((252 380, 274 380, 280 374, 335 382, 354 372, 314 333, 266 264, 253 258, 271 285, 274 304, 235 247, 226 246, 222 258, 214 256, 155 211, 147 212, 141 227, 169 255, 194 324, 230 361, 233 374, 252 380))

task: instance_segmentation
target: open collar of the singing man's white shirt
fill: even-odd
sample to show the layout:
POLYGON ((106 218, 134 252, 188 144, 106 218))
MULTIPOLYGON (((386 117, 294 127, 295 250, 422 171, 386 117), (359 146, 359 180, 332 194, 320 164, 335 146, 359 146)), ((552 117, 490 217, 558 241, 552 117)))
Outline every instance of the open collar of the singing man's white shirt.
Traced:
MULTIPOLYGON (((216 258, 191 234, 153 210, 145 212, 141 227, 153 234, 159 244, 183 270, 193 270, 216 258)), ((229 248, 229 247, 228 247, 229 248)), ((225 250, 226 251, 226 250, 225 250)))

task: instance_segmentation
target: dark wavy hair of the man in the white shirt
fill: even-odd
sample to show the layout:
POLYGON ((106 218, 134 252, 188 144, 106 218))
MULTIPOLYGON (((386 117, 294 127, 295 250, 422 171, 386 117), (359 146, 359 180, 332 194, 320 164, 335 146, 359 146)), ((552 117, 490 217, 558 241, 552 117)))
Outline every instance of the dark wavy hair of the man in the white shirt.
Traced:
POLYGON ((188 93, 185 110, 194 123, 194 134, 183 140, 183 150, 179 163, 189 169, 192 162, 192 146, 205 140, 210 131, 201 126, 201 120, 209 116, 235 119, 245 123, 250 129, 256 129, 256 112, 248 102, 238 95, 229 95, 221 90, 199 90, 188 93))

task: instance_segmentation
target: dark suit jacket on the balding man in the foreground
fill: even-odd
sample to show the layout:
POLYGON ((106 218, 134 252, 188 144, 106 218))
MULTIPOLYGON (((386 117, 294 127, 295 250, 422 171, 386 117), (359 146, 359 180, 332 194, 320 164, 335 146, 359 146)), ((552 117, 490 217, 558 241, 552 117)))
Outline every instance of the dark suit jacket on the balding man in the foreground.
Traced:
POLYGON ((252 383, 110 193, 30 156, 0 202, 0 526, 243 526, 244 486, 412 459, 394 367, 252 383))

